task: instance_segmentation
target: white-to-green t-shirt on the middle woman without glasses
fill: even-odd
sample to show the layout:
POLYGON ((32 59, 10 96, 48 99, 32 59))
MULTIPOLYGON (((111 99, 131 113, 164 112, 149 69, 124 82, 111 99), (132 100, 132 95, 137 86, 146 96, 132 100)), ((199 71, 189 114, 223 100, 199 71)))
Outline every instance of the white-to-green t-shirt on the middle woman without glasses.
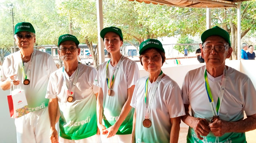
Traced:
MULTIPOLYGON (((94 81, 94 85, 101 87, 104 94, 104 117, 102 119, 104 121, 103 124, 106 126, 106 128, 115 124, 121 113, 122 107, 127 101, 127 89, 129 89, 132 85, 135 85, 136 81, 139 79, 139 70, 137 63, 128 59, 127 57, 124 57, 116 74, 114 84, 111 87, 111 96, 108 96, 108 85, 106 83, 107 62, 108 61, 105 61, 99 66, 99 71, 94 81)), ((116 66, 113 67, 109 62, 108 75, 109 77, 111 77, 111 79, 113 77, 115 69, 116 66)), ((134 109, 129 112, 116 134, 131 134, 133 113, 134 109)))

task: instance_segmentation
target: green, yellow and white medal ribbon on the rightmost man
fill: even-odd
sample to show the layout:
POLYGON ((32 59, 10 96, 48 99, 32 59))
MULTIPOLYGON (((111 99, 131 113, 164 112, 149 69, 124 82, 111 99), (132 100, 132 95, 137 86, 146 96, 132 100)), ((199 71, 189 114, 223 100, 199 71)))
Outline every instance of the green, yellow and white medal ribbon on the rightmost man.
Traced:
POLYGON ((210 102, 211 111, 213 112, 213 116, 219 116, 219 110, 220 110, 220 106, 221 106, 221 102, 222 102, 222 99, 223 99, 223 94, 224 94, 224 90, 225 90, 225 86, 226 86, 226 81, 227 81, 226 70, 227 70, 227 68, 225 66, 225 69, 224 69, 223 74, 222 74, 222 80, 221 80, 219 97, 218 97, 218 100, 217 100, 216 109, 214 108, 215 105, 214 105, 214 102, 213 102, 213 96, 211 94, 211 89, 210 89, 210 85, 209 85, 209 82, 208 82, 206 69, 205 69, 205 72, 204 72, 205 88, 206 88, 206 92, 207 92, 208 99, 209 99, 209 102, 210 102))

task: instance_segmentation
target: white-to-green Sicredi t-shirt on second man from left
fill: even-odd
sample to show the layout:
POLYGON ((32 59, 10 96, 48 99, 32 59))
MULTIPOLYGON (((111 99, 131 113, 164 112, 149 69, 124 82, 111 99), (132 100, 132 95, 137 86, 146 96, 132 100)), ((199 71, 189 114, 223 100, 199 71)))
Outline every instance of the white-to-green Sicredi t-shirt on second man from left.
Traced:
MULTIPOLYGON (((63 67, 53 72, 49 79, 46 98, 58 98, 60 110, 60 137, 79 140, 96 134, 96 96, 98 87, 93 86, 97 70, 94 67, 79 64, 78 80, 73 93, 73 102, 67 102, 67 87, 62 75, 63 67)), ((69 77, 66 71, 65 78, 72 87, 76 71, 69 77)), ((69 89, 71 91, 71 89, 69 89)))

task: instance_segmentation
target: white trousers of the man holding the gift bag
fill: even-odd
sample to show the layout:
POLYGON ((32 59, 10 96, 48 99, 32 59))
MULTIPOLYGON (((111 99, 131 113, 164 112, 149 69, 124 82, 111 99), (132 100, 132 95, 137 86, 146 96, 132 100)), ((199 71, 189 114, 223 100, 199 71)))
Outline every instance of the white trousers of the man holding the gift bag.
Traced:
POLYGON ((17 143, 50 143, 48 107, 15 119, 17 143))

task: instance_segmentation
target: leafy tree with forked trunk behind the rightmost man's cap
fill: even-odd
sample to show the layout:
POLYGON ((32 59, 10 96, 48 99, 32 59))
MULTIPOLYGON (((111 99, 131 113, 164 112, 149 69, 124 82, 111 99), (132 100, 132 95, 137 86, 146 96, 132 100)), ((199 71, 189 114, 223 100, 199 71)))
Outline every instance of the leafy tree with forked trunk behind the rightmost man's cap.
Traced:
MULTIPOLYGON (((243 1, 241 4, 241 39, 248 31, 255 31, 256 17, 255 1, 243 1)), ((171 18, 177 17, 174 33, 184 36, 190 34, 201 35, 206 30, 206 10, 175 7, 171 18), (175 12, 177 14, 175 14, 175 12)), ((219 26, 230 33, 231 47, 233 47, 232 59, 237 59, 237 9, 211 9, 211 26, 219 26)), ((240 51, 239 51, 240 52, 240 51)))

